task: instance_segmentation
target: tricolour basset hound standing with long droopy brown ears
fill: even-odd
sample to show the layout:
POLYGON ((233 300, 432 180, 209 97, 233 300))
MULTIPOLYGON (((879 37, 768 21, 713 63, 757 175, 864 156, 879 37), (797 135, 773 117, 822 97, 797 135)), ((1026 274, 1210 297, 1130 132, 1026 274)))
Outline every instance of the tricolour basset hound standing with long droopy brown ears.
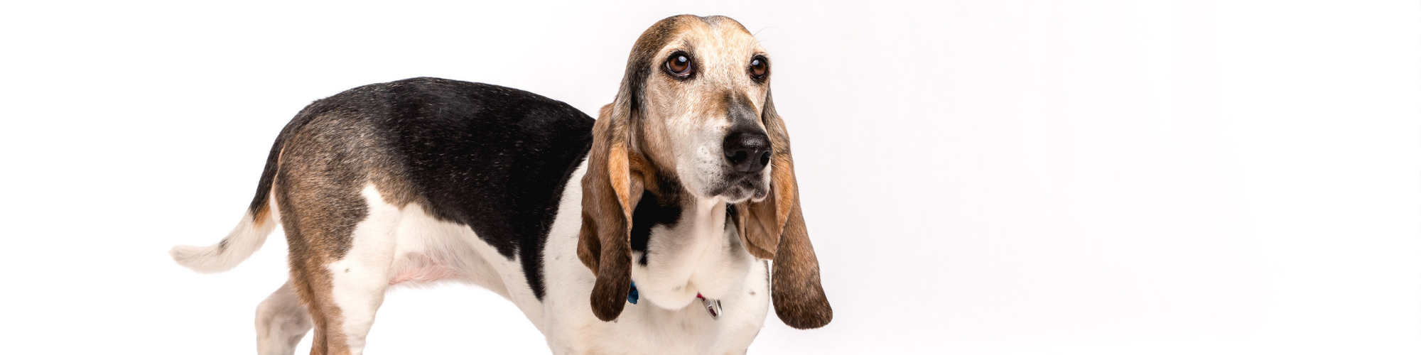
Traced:
POLYGON ((281 129, 226 239, 171 254, 226 271, 281 224, 259 354, 313 328, 311 354, 361 354, 387 290, 439 281, 513 301, 554 354, 745 354, 772 301, 794 328, 833 320, 770 74, 737 21, 675 16, 595 121, 487 84, 354 88, 281 129))

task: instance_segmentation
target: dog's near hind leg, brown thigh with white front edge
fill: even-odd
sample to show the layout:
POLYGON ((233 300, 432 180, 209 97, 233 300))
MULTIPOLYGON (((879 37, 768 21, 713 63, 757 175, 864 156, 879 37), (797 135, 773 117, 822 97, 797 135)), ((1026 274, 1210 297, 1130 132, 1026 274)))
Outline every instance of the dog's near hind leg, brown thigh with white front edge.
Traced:
POLYGON ((313 355, 364 352, 389 287, 399 207, 414 199, 382 131, 342 112, 303 111, 298 119, 317 116, 293 128, 273 178, 291 285, 311 315, 313 355))

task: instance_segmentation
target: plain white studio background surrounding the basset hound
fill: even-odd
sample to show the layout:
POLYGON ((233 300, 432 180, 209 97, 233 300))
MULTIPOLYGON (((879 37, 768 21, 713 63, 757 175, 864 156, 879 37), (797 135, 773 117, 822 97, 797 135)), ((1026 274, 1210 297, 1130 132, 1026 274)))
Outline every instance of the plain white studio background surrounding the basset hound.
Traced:
MULTIPOLYGON (((836 311, 752 354, 1421 352, 1414 1, 512 3, 0 4, 3 352, 253 352, 281 234, 166 251, 306 104, 428 75, 595 112, 679 13, 774 58, 836 311)), ((489 291, 387 300, 368 354, 547 354, 489 291)))

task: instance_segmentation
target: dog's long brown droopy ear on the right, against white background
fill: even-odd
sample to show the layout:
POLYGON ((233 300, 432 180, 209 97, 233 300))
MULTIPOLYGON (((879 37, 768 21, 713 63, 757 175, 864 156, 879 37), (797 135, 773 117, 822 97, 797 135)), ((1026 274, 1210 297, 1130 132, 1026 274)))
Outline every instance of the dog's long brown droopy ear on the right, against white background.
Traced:
POLYGON ((760 202, 745 202, 736 209, 740 239, 750 254, 774 260, 770 281, 774 314, 799 329, 824 327, 834 320, 834 310, 828 307, 818 283, 818 258, 804 229, 790 135, 769 95, 760 116, 774 149, 770 156, 770 193, 760 202))

